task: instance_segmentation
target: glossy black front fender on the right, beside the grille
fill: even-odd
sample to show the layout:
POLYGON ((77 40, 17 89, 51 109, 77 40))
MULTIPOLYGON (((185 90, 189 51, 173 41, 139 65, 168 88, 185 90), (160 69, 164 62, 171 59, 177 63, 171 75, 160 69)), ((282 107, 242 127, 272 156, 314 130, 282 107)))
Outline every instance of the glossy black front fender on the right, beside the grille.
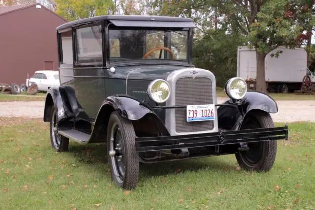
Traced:
MULTIPOLYGON (((223 104, 232 103, 232 99, 228 99, 223 104)), ((278 105, 275 100, 264 93, 249 91, 238 105, 223 105, 218 108, 219 128, 224 130, 238 130, 246 115, 252 110, 277 113, 278 105)))

